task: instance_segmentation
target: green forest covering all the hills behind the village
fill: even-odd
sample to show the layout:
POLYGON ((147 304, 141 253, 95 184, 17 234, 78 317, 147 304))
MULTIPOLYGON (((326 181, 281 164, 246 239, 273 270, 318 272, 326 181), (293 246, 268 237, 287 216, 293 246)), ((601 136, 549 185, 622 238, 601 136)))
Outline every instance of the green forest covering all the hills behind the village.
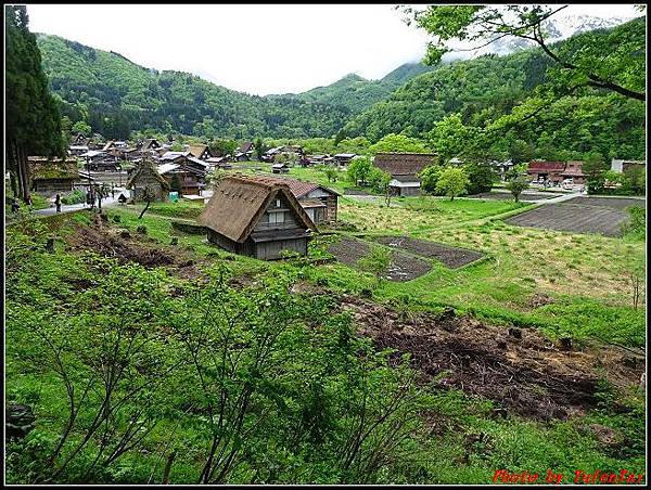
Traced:
MULTIPOLYGON (((643 37, 644 28, 640 17, 614 29, 635 38, 643 37)), ((599 42, 614 29, 580 34, 561 44, 580 43, 588 36, 599 42)), ((77 124, 106 138, 132 131, 208 140, 336 134, 336 141, 347 137, 375 143, 387 134, 404 134, 438 153, 458 154, 464 139, 482 133, 487 141, 482 151, 494 158, 644 157, 640 101, 584 88, 539 106, 541 91, 553 86, 556 75, 551 60, 538 49, 435 67, 406 64, 381 80, 352 74, 304 93, 256 96, 190 74, 143 68, 117 53, 55 36, 39 35, 38 46, 64 126, 77 124), (536 117, 511 124, 534 109, 536 117), (441 144, 450 139, 457 146, 441 144)))

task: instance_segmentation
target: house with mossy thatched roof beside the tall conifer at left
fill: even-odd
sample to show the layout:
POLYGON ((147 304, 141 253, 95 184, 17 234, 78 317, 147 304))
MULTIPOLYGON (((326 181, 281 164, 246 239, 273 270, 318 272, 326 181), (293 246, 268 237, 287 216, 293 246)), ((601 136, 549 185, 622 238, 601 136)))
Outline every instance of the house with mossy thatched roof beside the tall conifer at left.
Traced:
POLYGON ((48 158, 28 156, 29 188, 38 194, 52 195, 72 192, 79 178, 77 160, 74 158, 48 158))

